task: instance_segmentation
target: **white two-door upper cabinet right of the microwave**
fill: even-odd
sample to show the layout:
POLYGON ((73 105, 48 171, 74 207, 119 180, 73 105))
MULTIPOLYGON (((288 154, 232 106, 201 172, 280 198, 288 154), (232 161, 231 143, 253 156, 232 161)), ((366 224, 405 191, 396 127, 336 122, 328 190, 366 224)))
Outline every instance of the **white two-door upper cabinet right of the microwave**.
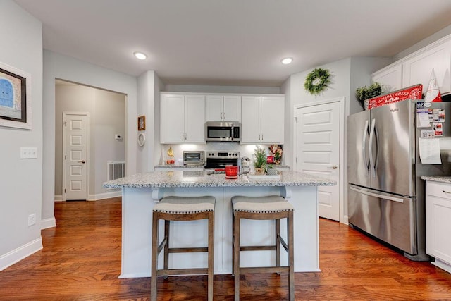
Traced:
POLYGON ((242 96, 241 143, 283 145, 285 97, 242 96))

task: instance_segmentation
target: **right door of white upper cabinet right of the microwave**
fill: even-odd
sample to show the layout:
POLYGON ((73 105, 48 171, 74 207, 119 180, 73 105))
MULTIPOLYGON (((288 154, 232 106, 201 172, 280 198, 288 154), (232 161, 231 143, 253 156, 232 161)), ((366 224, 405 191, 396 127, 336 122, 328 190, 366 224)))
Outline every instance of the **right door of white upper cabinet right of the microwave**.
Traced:
POLYGON ((261 142, 283 145, 285 97, 261 97, 261 142))

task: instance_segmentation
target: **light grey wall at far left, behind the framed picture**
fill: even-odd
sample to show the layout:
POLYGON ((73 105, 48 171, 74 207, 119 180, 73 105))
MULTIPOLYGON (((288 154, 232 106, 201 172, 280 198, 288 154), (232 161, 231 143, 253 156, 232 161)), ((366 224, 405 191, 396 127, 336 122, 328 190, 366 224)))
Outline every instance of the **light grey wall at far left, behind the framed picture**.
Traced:
POLYGON ((32 130, 0 126, 0 270, 42 248, 42 25, 11 0, 0 1, 0 61, 31 75, 32 130), (19 159, 37 147, 37 159, 19 159), (36 224, 27 226, 28 215, 36 224))

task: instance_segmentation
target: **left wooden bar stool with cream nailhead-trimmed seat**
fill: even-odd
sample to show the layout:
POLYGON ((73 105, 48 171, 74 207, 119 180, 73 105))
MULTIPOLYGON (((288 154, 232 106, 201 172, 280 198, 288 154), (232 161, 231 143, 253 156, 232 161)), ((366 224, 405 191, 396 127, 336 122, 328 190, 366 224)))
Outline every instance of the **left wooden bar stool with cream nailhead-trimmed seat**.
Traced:
POLYGON ((150 281, 150 300, 156 301, 156 278, 168 275, 198 275, 207 274, 208 300, 213 300, 213 269, 214 269, 214 197, 164 197, 154 206, 152 217, 152 278, 150 281), (169 246, 169 221, 195 221, 208 219, 207 247, 169 246), (159 245, 159 221, 164 220, 164 238, 159 245), (163 250, 163 269, 158 269, 158 255, 163 250), (208 252, 207 268, 168 269, 169 253, 208 252))

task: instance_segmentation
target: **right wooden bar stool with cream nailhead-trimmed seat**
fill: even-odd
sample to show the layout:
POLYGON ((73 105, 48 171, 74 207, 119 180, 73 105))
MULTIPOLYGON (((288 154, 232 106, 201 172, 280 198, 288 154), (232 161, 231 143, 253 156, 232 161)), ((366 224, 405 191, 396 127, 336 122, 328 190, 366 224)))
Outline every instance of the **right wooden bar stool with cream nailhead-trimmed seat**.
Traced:
POLYGON ((295 272, 293 250, 292 205, 283 197, 232 197, 233 206, 233 275, 235 276, 235 301, 240 300, 240 274, 288 272, 288 294, 295 300, 295 272), (241 219, 276 220, 276 244, 265 246, 240 245, 241 219), (280 219, 287 219, 288 243, 280 237, 280 219), (280 245, 288 252, 288 266, 280 266, 280 245), (276 251, 276 266, 240 267, 240 251, 276 251))

